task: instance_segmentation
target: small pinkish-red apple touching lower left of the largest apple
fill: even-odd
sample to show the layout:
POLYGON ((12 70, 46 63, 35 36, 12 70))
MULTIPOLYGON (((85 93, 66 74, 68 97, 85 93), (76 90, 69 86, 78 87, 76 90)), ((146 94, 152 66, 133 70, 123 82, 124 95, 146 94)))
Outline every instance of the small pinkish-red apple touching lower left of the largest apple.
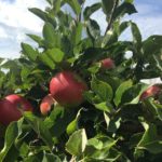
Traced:
POLYGON ((50 112, 52 105, 55 103, 51 94, 46 95, 40 104, 40 111, 42 114, 48 114, 50 112))

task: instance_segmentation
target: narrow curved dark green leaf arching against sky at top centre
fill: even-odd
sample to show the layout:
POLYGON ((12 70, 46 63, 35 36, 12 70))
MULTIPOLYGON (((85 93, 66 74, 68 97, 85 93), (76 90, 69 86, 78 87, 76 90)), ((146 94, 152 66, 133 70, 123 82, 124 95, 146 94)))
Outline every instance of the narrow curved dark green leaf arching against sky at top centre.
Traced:
POLYGON ((100 6, 102 6, 100 3, 95 3, 91 6, 86 6, 83 12, 84 21, 87 21, 94 12, 100 9, 100 6))

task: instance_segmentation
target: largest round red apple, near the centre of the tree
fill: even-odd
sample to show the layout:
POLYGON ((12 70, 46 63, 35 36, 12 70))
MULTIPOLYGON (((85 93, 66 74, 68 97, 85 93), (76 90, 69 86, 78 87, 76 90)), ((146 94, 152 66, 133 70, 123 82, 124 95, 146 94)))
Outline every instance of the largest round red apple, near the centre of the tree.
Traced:
POLYGON ((62 71, 52 78, 50 92, 55 100, 66 107, 79 106, 83 102, 85 82, 72 71, 62 71))

